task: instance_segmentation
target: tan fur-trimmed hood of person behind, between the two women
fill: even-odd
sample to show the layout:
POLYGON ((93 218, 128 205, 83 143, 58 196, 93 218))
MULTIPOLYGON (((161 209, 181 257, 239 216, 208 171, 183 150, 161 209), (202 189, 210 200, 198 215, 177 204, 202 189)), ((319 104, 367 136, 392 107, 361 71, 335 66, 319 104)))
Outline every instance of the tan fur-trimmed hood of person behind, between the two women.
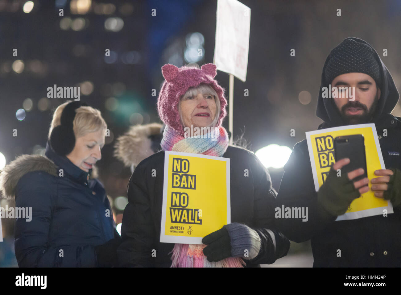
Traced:
POLYGON ((126 167, 136 167, 160 150, 162 128, 163 125, 158 123, 131 126, 124 135, 117 138, 114 156, 126 167))

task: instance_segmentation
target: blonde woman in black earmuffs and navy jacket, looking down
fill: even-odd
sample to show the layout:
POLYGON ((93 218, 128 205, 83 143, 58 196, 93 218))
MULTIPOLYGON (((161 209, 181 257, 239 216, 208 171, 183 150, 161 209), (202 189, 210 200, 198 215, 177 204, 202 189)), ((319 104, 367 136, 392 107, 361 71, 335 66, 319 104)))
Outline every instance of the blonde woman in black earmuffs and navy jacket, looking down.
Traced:
POLYGON ((95 178, 107 125, 99 110, 80 102, 53 115, 45 157, 22 155, 0 175, 3 195, 32 208, 17 219, 19 267, 113 267, 121 242, 103 185, 95 178))

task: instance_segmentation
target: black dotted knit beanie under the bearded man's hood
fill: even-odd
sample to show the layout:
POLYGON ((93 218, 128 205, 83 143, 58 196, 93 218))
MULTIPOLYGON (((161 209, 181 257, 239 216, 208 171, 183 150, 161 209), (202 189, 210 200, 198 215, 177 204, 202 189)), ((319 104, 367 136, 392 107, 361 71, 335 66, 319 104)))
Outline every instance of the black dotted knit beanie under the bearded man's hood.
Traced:
POLYGON ((345 39, 330 52, 329 61, 324 70, 326 83, 330 84, 335 77, 342 74, 365 73, 371 76, 380 87, 380 66, 375 56, 375 50, 369 45, 353 39, 345 39))

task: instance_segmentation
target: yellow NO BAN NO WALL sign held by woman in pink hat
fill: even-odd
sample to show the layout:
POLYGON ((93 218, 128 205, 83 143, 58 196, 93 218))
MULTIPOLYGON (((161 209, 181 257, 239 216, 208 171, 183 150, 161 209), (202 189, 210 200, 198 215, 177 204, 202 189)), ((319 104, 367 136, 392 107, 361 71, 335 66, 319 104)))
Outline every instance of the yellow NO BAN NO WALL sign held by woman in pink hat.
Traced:
POLYGON ((202 244, 230 219, 230 159, 165 151, 160 242, 202 244))

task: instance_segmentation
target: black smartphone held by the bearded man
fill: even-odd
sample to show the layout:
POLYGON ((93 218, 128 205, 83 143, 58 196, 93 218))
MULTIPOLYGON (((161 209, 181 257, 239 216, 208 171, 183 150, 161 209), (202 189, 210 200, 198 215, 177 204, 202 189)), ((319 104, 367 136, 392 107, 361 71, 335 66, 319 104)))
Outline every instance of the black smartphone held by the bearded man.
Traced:
POLYGON ((368 177, 366 169, 365 138, 362 134, 337 136, 334 138, 334 158, 336 161, 348 158, 350 163, 341 169, 341 173, 348 173, 363 168, 365 173, 352 181, 368 177))

